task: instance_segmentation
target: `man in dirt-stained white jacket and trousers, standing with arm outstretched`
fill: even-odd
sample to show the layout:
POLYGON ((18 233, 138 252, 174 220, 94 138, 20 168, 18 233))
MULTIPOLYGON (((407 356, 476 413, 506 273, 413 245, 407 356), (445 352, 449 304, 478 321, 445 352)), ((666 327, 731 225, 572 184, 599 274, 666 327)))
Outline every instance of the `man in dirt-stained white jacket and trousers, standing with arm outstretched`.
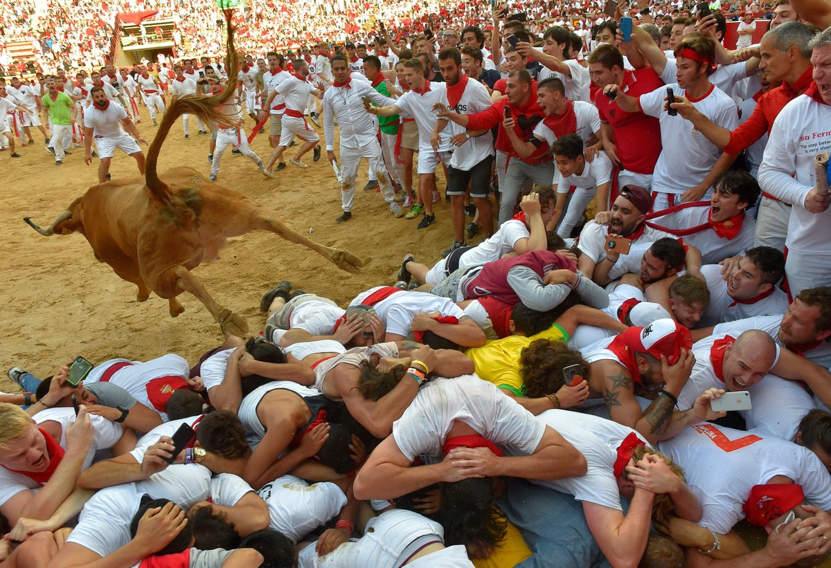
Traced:
MULTIPOLYGON (((381 95, 366 81, 352 81, 347 59, 341 54, 332 57, 332 73, 335 81, 323 95, 323 132, 326 136, 326 154, 330 164, 335 164, 335 119, 341 135, 341 208, 343 213, 335 219, 342 223, 352 218, 352 202, 355 198, 355 178, 361 158, 372 165, 378 176, 381 194, 389 203, 390 211, 395 217, 404 212, 395 202, 395 193, 386 171, 381 144, 378 144, 376 132, 378 125, 372 115, 364 112, 364 97, 377 105, 391 105, 395 100, 381 95)), ((383 79, 383 75, 381 75, 383 79)))

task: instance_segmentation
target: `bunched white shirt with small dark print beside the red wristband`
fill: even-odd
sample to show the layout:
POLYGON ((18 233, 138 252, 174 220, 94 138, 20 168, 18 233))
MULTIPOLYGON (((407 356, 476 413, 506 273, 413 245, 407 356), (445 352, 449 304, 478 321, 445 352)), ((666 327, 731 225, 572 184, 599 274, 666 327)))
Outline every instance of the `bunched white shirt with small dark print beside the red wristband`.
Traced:
POLYGON ((347 504, 347 496, 334 483, 309 485, 292 475, 266 483, 257 493, 268 503, 269 526, 294 544, 335 517, 347 504))

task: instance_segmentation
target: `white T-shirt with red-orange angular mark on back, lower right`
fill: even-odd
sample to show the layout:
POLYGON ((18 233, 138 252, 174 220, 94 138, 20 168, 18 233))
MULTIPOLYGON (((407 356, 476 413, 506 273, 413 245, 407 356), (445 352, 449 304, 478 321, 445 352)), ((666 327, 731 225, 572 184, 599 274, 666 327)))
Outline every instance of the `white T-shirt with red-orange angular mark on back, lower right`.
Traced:
POLYGON ((742 505, 750 489, 777 475, 802 485, 806 502, 831 508, 828 470, 813 452, 793 442, 705 423, 659 442, 657 449, 684 469, 704 510, 698 524, 722 535, 745 517, 742 505))

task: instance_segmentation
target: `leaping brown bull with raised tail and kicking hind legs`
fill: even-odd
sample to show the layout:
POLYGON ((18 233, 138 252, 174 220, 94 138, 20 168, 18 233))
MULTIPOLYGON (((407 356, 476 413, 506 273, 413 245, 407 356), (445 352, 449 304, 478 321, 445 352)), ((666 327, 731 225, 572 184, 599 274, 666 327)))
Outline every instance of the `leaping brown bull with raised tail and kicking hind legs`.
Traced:
POLYGON ((49 228, 30 218, 26 223, 45 236, 81 233, 99 262, 106 262, 127 282, 138 286, 138 301, 150 292, 170 302, 170 316, 184 308, 176 296, 188 291, 201 301, 223 331, 244 336, 248 324, 242 316, 219 306, 202 282, 190 272, 203 261, 218 257, 226 239, 254 230, 270 231, 302 244, 347 272, 359 272, 361 259, 350 252, 324 247, 293 228, 277 213, 231 189, 211 183, 195 169, 169 169, 161 179, 156 162, 165 137, 184 113, 227 125, 223 106, 237 91, 237 54, 234 31, 228 27, 229 83, 221 95, 183 96, 170 105, 147 154, 145 179, 111 181, 91 187, 76 198, 49 228))

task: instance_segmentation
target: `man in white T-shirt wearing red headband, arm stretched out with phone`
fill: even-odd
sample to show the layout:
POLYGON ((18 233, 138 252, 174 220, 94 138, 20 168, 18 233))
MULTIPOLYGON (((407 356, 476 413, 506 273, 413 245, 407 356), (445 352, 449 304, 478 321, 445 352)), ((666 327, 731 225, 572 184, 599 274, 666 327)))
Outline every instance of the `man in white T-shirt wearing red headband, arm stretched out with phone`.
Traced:
MULTIPOLYGON (((654 47, 654 42, 652 42, 654 47)), ((667 89, 684 96, 717 125, 733 130, 739 125, 735 103, 711 84, 715 71, 715 42, 709 37, 688 39, 676 47, 676 83, 634 98, 617 85, 607 85, 604 94, 617 93, 615 102, 627 112, 642 110, 661 123, 661 155, 652 176, 653 210, 676 203, 700 201, 715 178, 733 163, 735 156, 723 154, 691 123, 665 110, 667 89)))

